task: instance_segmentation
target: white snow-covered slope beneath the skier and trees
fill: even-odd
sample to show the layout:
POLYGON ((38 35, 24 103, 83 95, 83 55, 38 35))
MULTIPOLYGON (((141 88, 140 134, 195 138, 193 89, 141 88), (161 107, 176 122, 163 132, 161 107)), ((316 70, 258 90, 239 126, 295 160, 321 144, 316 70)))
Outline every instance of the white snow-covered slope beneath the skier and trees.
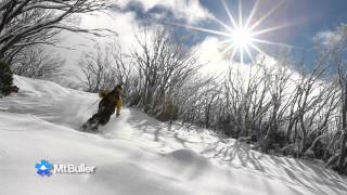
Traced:
POLYGON ((17 76, 15 84, 20 93, 0 99, 1 195, 347 194, 347 179, 317 165, 169 127, 130 108, 99 133, 81 132, 97 109, 95 94, 17 76), (40 159, 97 170, 40 177, 40 159))

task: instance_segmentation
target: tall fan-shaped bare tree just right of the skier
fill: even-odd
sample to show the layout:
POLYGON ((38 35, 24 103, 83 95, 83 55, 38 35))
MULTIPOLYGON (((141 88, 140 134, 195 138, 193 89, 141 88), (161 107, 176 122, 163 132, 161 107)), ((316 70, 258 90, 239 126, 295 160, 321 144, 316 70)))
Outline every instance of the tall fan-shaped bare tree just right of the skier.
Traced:
POLYGON ((160 26, 152 37, 144 29, 136 38, 140 50, 133 50, 131 55, 142 79, 138 106, 160 114, 167 101, 175 99, 171 94, 196 74, 196 56, 160 26))

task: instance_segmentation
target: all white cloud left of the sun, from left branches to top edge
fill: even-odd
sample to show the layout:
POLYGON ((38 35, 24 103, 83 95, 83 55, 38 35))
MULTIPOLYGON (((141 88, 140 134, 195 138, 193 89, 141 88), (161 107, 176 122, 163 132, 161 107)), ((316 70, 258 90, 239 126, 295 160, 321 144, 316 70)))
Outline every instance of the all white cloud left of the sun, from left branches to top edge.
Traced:
MULTIPOLYGON (((75 34, 69 31, 63 31, 60 35, 62 41, 60 46, 66 48, 73 48, 74 50, 67 50, 62 48, 54 48, 54 50, 63 56, 66 61, 65 68, 73 75, 80 75, 78 61, 81 58, 82 53, 93 52, 94 44, 99 43, 103 46, 106 42, 117 40, 123 49, 124 53, 129 54, 130 49, 138 48, 138 43, 134 35, 139 32, 143 26, 142 21, 138 17, 138 11, 127 10, 130 3, 140 3, 142 9, 146 12, 151 9, 157 9, 158 12, 151 12, 154 18, 163 18, 167 16, 166 12, 170 12, 170 17, 178 20, 184 20, 188 23, 196 23, 201 20, 209 17, 211 14, 204 9, 198 0, 117 0, 116 6, 120 10, 108 10, 106 13, 98 12, 92 14, 79 15, 77 20, 79 27, 86 29, 107 28, 118 34, 118 37, 94 37, 86 34, 75 34), (123 11, 125 9, 125 11, 123 11), (162 10, 164 11, 162 12, 162 10)), ((76 21, 76 20, 74 20, 76 21)), ((145 25, 147 27, 149 37, 152 34, 155 23, 145 25)))

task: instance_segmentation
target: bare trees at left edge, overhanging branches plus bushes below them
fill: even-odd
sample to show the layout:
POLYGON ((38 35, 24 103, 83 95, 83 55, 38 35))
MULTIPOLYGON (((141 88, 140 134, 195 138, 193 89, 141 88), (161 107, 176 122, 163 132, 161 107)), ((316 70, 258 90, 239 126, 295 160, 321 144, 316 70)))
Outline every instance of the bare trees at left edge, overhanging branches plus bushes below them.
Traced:
POLYGON ((108 4, 106 0, 0 1, 0 92, 9 93, 12 73, 43 79, 62 76, 64 61, 44 52, 44 46, 59 46, 62 30, 95 36, 110 32, 82 29, 74 22, 76 14, 104 10, 108 4))

